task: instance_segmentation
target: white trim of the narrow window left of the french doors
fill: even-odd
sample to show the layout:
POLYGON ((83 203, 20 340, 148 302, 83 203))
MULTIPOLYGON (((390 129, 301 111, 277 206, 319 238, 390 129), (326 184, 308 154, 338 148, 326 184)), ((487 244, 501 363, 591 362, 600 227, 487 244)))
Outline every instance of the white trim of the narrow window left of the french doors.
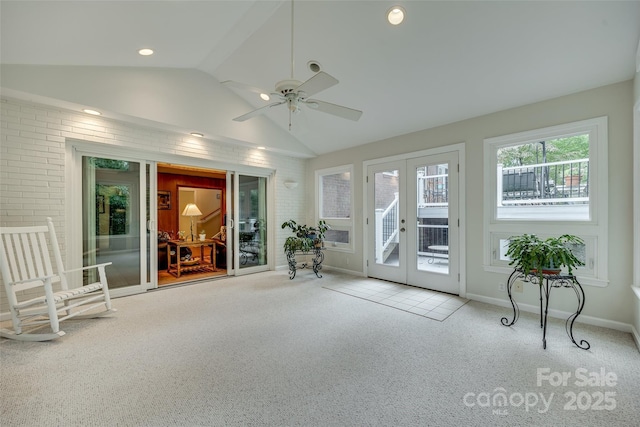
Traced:
POLYGON ((355 226, 354 226, 354 185, 353 185, 353 164, 334 166, 331 168, 317 169, 315 171, 315 192, 316 192, 316 212, 315 222, 320 220, 327 221, 327 224, 335 230, 343 230, 349 232, 349 243, 329 242, 325 245, 327 250, 337 252, 355 252, 355 226), (336 175, 340 173, 349 173, 349 182, 351 184, 351 195, 349 200, 349 218, 329 218, 323 217, 322 213, 322 189, 321 189, 321 177, 325 175, 336 175))

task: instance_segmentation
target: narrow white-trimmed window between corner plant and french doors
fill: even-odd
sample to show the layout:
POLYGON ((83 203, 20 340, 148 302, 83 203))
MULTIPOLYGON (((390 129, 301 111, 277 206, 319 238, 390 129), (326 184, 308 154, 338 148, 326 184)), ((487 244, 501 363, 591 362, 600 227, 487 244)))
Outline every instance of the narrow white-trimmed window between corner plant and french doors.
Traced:
POLYGON ((353 251, 353 165, 316 171, 317 219, 331 227, 328 249, 353 251))

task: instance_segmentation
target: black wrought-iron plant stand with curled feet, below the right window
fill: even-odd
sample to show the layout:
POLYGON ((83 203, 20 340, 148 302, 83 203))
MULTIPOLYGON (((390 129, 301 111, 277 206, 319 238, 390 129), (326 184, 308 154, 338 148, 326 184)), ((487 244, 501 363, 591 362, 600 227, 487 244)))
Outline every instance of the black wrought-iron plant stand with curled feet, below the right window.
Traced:
POLYGON ((513 294, 511 293, 513 284, 518 279, 538 285, 538 288, 540 289, 540 327, 542 328, 542 348, 547 348, 547 314, 549 312, 549 296, 551 294, 551 289, 553 288, 570 288, 576 293, 578 308, 575 313, 567 318, 567 321, 565 322, 565 330, 567 331, 567 335, 569 335, 571 342, 573 342, 577 347, 583 350, 588 350, 591 347, 588 341, 580 340, 580 344, 578 344, 573 337, 573 324, 576 318, 580 315, 580 312, 582 312, 585 302, 582 285, 580 285, 578 279, 573 275, 543 274, 541 280, 537 274, 525 274, 521 270, 514 270, 509 276, 509 282, 507 284, 509 300, 513 306, 513 320, 509 321, 509 319, 503 317, 500 319, 500 322, 504 326, 513 325, 518 321, 518 317, 520 317, 520 309, 518 308, 518 304, 514 301, 513 294))

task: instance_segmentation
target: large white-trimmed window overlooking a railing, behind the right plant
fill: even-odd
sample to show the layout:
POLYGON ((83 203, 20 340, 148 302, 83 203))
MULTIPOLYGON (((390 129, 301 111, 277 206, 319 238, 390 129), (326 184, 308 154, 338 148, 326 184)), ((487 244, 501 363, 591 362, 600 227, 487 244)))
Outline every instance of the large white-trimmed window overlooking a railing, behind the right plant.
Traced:
POLYGON ((511 236, 574 234, 581 283, 607 285, 607 144, 606 117, 484 140, 486 270, 511 269, 511 236))

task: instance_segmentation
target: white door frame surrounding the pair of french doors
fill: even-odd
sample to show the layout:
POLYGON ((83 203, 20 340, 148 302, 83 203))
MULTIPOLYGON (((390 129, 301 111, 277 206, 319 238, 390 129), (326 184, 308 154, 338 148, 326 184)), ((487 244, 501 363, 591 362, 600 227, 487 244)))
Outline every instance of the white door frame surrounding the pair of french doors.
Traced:
MULTIPOLYGON (((388 162, 393 162, 393 161, 398 161, 398 160, 410 160, 413 158, 417 158, 417 157, 426 157, 426 156, 432 156, 432 155, 436 155, 436 154, 443 154, 443 153, 448 153, 448 152, 457 152, 458 155, 458 164, 460 167, 460 171, 458 174, 458 178, 459 178, 459 188, 458 188, 458 214, 459 214, 459 218, 460 218, 460 226, 458 228, 459 231, 459 244, 460 244, 460 248, 459 248, 459 274, 460 274, 460 280, 459 280, 459 295, 461 297, 465 297, 466 296, 466 292, 467 292, 467 275, 466 275, 466 178, 465 178, 465 171, 466 171, 466 167, 465 167, 465 144, 464 143, 458 143, 458 144, 452 144, 452 145, 447 145, 444 147, 437 147, 437 148, 431 148, 431 149, 427 149, 427 150, 421 150, 421 151, 416 151, 416 152, 411 152, 411 153, 405 153, 405 154, 398 154, 395 156, 390 156, 390 157, 384 157, 384 158, 379 158, 379 159, 373 159, 373 160, 366 160, 363 162, 363 167, 362 167, 362 194, 363 194, 363 214, 365 216, 365 218, 368 215, 367 212, 367 207, 368 207, 368 192, 367 192, 367 171, 369 169, 369 166, 372 165, 376 165, 376 164, 380 164, 380 163, 388 163, 388 162)), ((371 245, 373 243, 373 237, 370 239, 368 236, 368 230, 367 230, 368 224, 366 223, 366 221, 363 221, 363 225, 362 225, 362 236, 363 236, 363 249, 362 249, 362 265, 363 265, 363 270, 364 270, 364 275, 365 277, 369 276, 369 269, 367 266, 367 260, 368 260, 368 253, 369 250, 367 248, 369 248, 369 245, 371 245)))

